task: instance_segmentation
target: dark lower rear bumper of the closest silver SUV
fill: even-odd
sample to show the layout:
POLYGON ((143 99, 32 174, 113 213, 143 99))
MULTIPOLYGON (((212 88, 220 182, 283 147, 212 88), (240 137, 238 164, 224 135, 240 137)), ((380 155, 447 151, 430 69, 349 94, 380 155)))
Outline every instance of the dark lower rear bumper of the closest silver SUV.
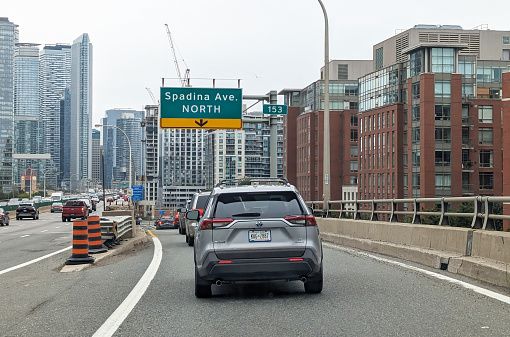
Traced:
POLYGON ((220 263, 214 252, 210 252, 198 274, 208 281, 270 281, 299 280, 313 277, 320 271, 321 261, 310 249, 295 258, 237 259, 220 263))

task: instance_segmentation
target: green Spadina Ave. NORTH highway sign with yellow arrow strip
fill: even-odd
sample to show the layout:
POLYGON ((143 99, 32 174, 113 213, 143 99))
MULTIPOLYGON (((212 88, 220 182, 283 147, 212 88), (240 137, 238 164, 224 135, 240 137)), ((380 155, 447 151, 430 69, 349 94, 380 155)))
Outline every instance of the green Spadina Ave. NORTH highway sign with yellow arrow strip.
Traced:
POLYGON ((161 88, 160 127, 242 129, 239 88, 161 88))

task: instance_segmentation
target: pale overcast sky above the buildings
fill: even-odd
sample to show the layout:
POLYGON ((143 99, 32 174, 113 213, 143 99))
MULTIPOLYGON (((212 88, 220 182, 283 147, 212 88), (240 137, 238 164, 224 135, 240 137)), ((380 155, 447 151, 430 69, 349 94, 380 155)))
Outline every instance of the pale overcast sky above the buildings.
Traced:
MULTIPOLYGON (((416 24, 510 30, 507 0, 323 2, 330 59, 372 59, 374 44, 416 24)), ((146 88, 159 99, 161 78, 179 86, 165 23, 181 72, 187 65, 195 87, 211 87, 215 78, 217 87, 235 87, 223 79, 241 79, 246 95, 304 88, 324 65, 317 0, 4 0, 0 16, 19 25, 20 42, 70 44, 89 34, 94 124, 105 110, 152 104, 146 88)))

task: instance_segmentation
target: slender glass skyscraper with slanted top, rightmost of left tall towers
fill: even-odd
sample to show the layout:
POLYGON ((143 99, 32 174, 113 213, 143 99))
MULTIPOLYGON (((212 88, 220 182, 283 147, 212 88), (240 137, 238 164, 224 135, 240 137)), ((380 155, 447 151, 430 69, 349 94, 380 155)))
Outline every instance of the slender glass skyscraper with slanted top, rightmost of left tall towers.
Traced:
POLYGON ((92 43, 87 33, 71 47, 71 175, 92 178, 92 43))

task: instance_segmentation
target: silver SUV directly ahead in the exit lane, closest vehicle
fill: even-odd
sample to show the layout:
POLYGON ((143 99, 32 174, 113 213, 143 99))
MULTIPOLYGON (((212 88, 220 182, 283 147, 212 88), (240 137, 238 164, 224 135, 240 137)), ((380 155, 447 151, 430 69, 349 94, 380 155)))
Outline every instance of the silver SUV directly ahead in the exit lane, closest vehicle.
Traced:
POLYGON ((223 181, 208 199, 195 234, 195 296, 211 285, 301 280, 307 293, 323 284, 322 243, 311 210, 285 179, 223 181), (228 186, 236 183, 235 186, 228 186))

